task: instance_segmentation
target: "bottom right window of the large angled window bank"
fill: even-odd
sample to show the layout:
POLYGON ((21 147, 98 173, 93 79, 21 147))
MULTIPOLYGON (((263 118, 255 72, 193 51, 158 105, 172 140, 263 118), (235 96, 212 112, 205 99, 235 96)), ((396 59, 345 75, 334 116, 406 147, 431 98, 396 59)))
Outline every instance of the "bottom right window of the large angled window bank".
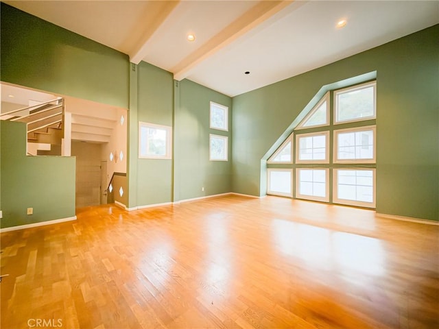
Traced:
POLYGON ((375 169, 334 169, 333 202, 375 208, 375 169))

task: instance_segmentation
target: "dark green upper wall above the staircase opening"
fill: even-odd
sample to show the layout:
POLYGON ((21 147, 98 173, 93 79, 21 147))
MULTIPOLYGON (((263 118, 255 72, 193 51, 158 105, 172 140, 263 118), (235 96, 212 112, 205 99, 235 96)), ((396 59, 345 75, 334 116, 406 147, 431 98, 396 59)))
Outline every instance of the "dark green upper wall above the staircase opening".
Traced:
POLYGON ((128 56, 1 3, 1 81, 128 108, 128 56))

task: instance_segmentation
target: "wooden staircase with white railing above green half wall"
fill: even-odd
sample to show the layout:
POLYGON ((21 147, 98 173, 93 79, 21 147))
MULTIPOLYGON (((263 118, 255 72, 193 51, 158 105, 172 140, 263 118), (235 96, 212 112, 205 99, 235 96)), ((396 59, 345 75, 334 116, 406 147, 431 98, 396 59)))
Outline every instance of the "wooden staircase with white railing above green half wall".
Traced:
POLYGON ((27 155, 60 156, 64 136, 64 99, 0 114, 0 119, 27 124, 27 155))

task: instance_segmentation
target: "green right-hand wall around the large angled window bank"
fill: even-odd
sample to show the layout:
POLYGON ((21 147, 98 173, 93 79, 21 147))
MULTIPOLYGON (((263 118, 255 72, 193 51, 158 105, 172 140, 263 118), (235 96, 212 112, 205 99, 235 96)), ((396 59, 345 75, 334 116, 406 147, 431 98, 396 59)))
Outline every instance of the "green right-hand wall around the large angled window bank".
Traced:
POLYGON ((377 71, 377 212, 439 220, 439 25, 233 98, 233 191, 324 85, 377 71))

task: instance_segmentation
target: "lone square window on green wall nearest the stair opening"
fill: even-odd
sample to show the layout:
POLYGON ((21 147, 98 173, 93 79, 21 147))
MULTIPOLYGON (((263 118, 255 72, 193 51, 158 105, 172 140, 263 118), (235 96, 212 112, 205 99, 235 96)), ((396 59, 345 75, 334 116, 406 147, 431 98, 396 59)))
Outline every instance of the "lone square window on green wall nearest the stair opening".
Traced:
POLYGON ((139 158, 171 159, 172 128, 139 122, 139 158))

